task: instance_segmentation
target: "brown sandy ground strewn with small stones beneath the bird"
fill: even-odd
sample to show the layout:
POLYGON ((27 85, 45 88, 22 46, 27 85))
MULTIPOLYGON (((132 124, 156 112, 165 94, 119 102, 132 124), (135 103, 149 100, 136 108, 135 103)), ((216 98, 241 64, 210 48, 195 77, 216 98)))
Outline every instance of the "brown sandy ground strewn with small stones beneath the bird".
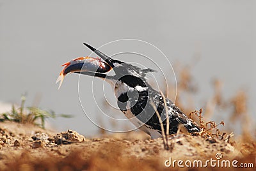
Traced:
MULTIPOLYGON (((255 143, 229 144, 223 140, 180 134, 151 140, 138 132, 87 138, 76 131, 56 133, 31 124, 0 123, 0 170, 197 170, 166 167, 166 160, 237 160, 253 163, 255 143), (220 160, 216 154, 221 155, 220 160)), ((166 163, 167 165, 170 163, 166 163)), ((184 165, 184 163, 183 163, 184 165)), ((204 163, 203 163, 204 165, 204 163)), ((238 164, 237 164, 238 165, 238 164)), ((202 167, 204 168, 204 166, 202 167)), ((208 168, 219 170, 218 167, 208 168)), ((225 168, 233 170, 232 168, 225 168)), ((246 168, 244 170, 253 170, 246 168)))

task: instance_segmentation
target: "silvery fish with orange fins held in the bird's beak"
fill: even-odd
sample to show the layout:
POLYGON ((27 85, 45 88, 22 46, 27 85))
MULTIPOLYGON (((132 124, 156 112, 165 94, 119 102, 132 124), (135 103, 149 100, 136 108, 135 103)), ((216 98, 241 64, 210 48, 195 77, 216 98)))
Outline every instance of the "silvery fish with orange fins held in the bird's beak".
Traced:
POLYGON ((101 61, 100 58, 94 57, 77 57, 76 59, 73 59, 61 66, 65 66, 65 68, 60 72, 60 75, 56 80, 56 84, 60 82, 58 89, 60 89, 64 77, 68 73, 82 73, 84 75, 105 78, 106 75, 102 73, 106 73, 111 70, 111 66, 109 66, 108 63, 101 61))

